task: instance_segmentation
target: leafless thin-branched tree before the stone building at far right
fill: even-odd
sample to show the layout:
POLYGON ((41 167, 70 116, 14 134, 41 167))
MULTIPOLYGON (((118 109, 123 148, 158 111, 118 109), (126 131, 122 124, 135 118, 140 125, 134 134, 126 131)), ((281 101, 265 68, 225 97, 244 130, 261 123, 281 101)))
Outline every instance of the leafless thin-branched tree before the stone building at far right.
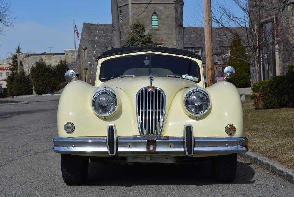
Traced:
MULTIPOLYGON (((287 57, 294 59, 293 17, 289 9, 281 4, 272 3, 272 0, 233 0, 233 2, 242 11, 241 14, 235 12, 235 7, 228 7, 223 2, 214 1, 212 5, 213 25, 220 27, 218 33, 230 41, 232 41, 230 38, 236 33, 236 28, 231 27, 238 27, 240 40, 248 50, 250 57, 249 60, 240 59, 240 61, 250 63, 251 82, 255 83, 264 79, 260 78, 261 65, 269 61, 270 55, 279 54, 280 57, 276 58, 280 58, 280 65, 288 64, 286 62, 288 60, 281 54, 288 54, 287 57)), ((293 4, 290 2, 289 5, 286 5, 292 6, 293 4)), ((221 52, 221 49, 219 50, 221 52)), ((280 69, 283 74, 283 68, 280 69)))

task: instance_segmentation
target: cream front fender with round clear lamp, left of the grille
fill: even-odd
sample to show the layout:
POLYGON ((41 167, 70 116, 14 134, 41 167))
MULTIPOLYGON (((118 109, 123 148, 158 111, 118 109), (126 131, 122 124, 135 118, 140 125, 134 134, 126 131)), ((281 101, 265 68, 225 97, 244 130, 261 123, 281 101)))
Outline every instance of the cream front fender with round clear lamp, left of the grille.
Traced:
POLYGON ((83 81, 69 83, 62 92, 57 110, 57 129, 59 137, 105 137, 108 124, 115 122, 120 136, 137 134, 138 124, 133 115, 132 105, 126 93, 119 88, 112 88, 123 102, 115 116, 102 119, 93 112, 93 95, 101 88, 91 86, 83 81), (75 126, 72 133, 66 133, 64 125, 71 122, 75 126), (126 127, 127 126, 127 127, 126 127))

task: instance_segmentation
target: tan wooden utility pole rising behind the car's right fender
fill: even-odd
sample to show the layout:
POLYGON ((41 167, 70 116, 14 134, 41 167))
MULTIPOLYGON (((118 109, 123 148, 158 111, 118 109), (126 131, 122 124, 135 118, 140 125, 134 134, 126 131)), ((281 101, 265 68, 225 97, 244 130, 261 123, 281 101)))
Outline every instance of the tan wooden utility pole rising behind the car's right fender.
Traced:
POLYGON ((207 87, 214 83, 213 55, 212 55, 212 21, 211 0, 203 0, 204 8, 204 35, 205 35, 205 57, 206 57, 206 79, 207 87))

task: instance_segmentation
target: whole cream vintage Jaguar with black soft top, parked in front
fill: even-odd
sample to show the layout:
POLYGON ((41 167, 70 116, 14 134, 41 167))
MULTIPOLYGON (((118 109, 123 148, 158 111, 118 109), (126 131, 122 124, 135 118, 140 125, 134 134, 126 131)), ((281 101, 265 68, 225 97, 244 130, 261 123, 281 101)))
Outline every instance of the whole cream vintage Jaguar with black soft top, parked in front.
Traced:
MULTIPOLYGON (((232 67, 225 70, 227 77, 234 73, 232 67)), ((237 153, 248 151, 240 94, 224 81, 205 88, 198 55, 163 47, 116 48, 98 58, 94 86, 77 80, 72 70, 65 77, 53 150, 61 154, 67 185, 85 183, 89 161, 210 160, 214 180, 234 180, 237 153)))

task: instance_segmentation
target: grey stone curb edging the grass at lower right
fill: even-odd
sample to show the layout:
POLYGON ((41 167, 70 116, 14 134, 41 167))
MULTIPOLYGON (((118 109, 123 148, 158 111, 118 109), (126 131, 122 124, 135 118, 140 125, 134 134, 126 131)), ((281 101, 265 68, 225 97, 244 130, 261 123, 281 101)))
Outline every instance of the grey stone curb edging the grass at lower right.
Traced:
POLYGON ((269 170, 271 173, 278 175, 280 178, 283 178, 286 181, 294 184, 293 170, 283 167, 283 165, 281 165, 280 163, 274 162, 273 160, 268 159, 263 155, 259 155, 250 151, 248 151, 247 153, 239 153, 238 155, 243 157, 245 160, 254 162, 256 165, 261 166, 269 170))

